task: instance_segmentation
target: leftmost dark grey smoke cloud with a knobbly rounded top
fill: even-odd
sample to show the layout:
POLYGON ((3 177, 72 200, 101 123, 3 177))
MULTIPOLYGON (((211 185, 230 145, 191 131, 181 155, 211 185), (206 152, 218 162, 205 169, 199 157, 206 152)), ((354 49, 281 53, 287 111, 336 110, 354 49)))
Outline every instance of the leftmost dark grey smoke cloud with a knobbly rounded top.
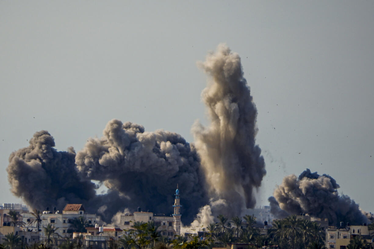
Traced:
POLYGON ((86 203, 95 197, 95 184, 82 181, 75 169, 75 151, 56 151, 53 137, 36 132, 30 145, 10 154, 7 167, 12 193, 29 206, 62 209, 67 202, 86 203))

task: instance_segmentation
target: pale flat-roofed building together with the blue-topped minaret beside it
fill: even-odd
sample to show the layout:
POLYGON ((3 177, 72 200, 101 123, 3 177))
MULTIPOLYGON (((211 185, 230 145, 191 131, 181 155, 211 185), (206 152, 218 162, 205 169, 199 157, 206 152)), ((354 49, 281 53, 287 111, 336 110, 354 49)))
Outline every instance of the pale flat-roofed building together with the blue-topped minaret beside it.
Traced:
POLYGON ((181 205, 180 205, 180 194, 177 187, 175 191, 174 201, 174 213, 172 216, 156 215, 153 212, 142 212, 141 208, 138 207, 138 211, 134 213, 125 213, 121 215, 120 226, 122 230, 132 229, 132 225, 135 222, 154 222, 154 225, 159 231, 161 236, 167 236, 169 239, 174 239, 174 236, 180 235, 181 233, 181 205))

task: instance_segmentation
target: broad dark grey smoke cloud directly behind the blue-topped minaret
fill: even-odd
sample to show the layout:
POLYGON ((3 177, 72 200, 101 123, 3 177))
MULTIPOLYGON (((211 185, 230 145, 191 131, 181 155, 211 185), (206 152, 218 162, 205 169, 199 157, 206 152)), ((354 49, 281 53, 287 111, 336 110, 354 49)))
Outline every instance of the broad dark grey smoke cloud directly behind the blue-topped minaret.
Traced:
MULTIPOLYGON (((183 218, 191 222, 200 206, 208 203, 205 178, 199 158, 186 140, 165 130, 145 132, 144 127, 113 119, 102 138, 92 138, 76 155, 77 170, 83 179, 104 182, 117 191, 135 210, 170 214, 175 188, 179 184, 183 197, 183 218)), ((119 210, 109 199, 102 202, 105 213, 119 210)))

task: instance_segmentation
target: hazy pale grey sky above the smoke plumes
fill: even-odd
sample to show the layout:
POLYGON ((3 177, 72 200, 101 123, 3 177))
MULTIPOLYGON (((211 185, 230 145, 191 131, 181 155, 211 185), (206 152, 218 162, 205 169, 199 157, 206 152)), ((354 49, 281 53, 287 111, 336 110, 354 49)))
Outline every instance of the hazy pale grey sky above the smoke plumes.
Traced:
POLYGON ((258 109, 258 204, 310 168, 373 212, 373 13, 373 1, 0 1, 0 203, 21 202, 8 157, 38 130, 58 150, 114 118, 193 142, 207 122, 196 61, 224 42, 258 109))

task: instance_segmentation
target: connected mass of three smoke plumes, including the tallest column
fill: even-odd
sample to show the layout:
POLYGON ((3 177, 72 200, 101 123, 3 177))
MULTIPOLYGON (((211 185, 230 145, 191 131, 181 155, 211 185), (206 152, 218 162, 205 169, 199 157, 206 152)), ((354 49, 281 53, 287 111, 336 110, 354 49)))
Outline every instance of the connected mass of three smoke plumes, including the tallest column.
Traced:
POLYGON ((125 208, 171 214, 177 184, 184 224, 194 217, 194 224, 205 224, 219 213, 235 216, 254 207, 252 193, 266 171, 255 145, 257 110, 240 58, 220 45, 200 67, 211 77, 202 93, 211 124, 194 124, 195 144, 174 132, 145 132, 115 119, 78 153, 56 151, 52 136, 37 132, 29 147, 10 156, 12 193, 37 209, 83 203, 88 212, 114 223, 125 208), (107 193, 96 194, 92 180, 107 193))

